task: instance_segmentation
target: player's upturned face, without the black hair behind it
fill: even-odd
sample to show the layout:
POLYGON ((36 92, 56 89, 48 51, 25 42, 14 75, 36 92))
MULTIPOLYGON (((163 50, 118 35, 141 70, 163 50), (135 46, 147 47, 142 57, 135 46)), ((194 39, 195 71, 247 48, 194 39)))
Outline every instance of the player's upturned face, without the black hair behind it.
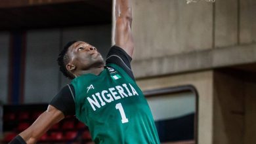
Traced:
POLYGON ((75 65, 75 70, 87 70, 104 65, 103 58, 95 46, 83 41, 77 41, 70 46, 68 54, 70 56, 70 63, 75 65))

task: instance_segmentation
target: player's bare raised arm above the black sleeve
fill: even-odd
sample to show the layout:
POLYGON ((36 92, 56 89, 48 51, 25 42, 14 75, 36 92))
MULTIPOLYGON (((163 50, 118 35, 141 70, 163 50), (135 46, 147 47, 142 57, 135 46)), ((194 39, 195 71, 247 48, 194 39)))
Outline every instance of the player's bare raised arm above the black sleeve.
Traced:
POLYGON ((133 35, 131 33, 132 10, 130 0, 116 0, 116 29, 115 43, 116 46, 123 48, 129 56, 133 55, 133 35))

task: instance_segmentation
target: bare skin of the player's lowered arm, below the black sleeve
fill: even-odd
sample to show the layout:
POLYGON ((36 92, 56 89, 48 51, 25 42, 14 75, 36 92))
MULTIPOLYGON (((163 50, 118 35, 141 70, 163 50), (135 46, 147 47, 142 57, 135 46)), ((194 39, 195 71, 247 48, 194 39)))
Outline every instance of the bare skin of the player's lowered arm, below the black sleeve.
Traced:
MULTIPOLYGON (((37 140, 43 134, 45 134, 45 132, 47 132, 49 128, 51 128, 51 126, 53 126, 63 118, 64 114, 61 111, 49 105, 47 111, 42 113, 29 128, 21 132, 19 135, 28 144, 36 143, 37 140)), ((18 143, 20 143, 20 141, 15 138, 12 139, 9 144, 18 143)))

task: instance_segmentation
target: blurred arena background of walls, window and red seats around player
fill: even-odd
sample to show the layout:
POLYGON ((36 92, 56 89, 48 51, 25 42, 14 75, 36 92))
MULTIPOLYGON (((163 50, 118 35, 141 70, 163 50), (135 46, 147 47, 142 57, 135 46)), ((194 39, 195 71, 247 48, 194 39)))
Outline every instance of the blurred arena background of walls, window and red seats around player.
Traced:
MULTIPOLYGON (((106 58, 111 0, 1 0, 0 143, 28 128, 70 81, 56 58, 72 40, 106 58)), ((256 1, 133 0, 132 69, 161 143, 256 143, 256 1)), ((92 143, 62 120, 39 143, 92 143)))

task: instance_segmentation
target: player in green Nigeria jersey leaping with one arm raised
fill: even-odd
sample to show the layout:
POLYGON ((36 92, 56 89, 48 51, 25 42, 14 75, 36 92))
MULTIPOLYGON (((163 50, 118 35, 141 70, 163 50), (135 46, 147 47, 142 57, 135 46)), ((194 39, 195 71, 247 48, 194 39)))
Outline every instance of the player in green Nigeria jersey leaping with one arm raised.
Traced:
POLYGON ((95 143, 160 143, 148 103, 131 71, 131 1, 116 1, 115 46, 106 59, 83 41, 71 41, 59 54, 60 71, 73 79, 47 111, 11 143, 36 143, 51 126, 75 115, 95 143))

